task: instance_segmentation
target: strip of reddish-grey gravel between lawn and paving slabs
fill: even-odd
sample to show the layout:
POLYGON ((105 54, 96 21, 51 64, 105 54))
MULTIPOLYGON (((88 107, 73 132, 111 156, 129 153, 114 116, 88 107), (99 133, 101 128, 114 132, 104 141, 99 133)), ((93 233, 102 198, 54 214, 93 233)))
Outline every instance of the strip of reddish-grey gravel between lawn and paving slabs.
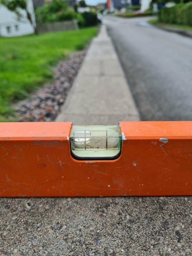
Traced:
POLYGON ((16 117, 20 122, 54 121, 60 113, 75 76, 83 62, 86 51, 72 54, 69 59, 60 61, 53 69, 51 83, 31 94, 31 97, 18 102, 16 117))

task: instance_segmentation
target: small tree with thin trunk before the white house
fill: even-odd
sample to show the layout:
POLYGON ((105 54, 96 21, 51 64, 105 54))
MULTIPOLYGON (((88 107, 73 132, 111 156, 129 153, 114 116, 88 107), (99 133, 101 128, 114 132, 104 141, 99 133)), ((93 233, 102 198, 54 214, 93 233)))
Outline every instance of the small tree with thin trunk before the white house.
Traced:
POLYGON ((35 34, 38 34, 37 28, 33 23, 31 13, 27 9, 27 0, 0 0, 0 4, 7 7, 8 10, 15 12, 15 14, 18 16, 18 19, 22 18, 20 9, 26 11, 26 18, 34 28, 35 34))

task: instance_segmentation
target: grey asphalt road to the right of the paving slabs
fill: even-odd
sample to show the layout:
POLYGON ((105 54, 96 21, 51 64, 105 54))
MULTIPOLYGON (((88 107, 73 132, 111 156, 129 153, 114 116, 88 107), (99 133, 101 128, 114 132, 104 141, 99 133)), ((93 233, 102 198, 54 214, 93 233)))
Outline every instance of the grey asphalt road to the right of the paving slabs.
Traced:
POLYGON ((148 18, 103 18, 143 121, 192 120, 192 38, 148 18))

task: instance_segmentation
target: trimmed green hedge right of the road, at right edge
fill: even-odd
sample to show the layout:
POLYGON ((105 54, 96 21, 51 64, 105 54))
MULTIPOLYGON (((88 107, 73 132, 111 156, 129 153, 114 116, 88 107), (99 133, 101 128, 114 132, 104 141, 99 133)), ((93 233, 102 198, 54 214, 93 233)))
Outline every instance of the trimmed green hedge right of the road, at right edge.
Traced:
POLYGON ((192 26, 192 2, 161 8, 159 22, 192 26))

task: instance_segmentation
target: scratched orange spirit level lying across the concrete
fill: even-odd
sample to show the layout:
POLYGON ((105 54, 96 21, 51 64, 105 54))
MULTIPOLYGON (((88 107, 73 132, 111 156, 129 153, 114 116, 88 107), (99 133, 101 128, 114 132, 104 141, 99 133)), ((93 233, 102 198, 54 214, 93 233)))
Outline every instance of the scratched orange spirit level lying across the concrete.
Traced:
POLYGON ((0 196, 192 195, 192 122, 0 123, 0 196))

